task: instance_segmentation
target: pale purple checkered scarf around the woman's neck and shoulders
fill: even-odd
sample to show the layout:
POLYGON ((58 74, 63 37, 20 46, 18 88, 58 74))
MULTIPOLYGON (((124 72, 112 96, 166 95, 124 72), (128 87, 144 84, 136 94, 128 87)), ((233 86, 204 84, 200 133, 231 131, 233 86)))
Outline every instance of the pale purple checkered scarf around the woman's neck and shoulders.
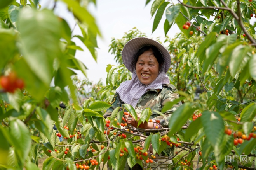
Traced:
POLYGON ((132 80, 121 83, 117 88, 116 92, 119 94, 120 99, 124 103, 132 105, 132 107, 136 107, 139 99, 147 90, 162 89, 163 84, 169 84, 170 80, 164 73, 164 67, 165 66, 163 65, 157 78, 149 85, 142 84, 136 75, 136 71, 134 71, 132 80))

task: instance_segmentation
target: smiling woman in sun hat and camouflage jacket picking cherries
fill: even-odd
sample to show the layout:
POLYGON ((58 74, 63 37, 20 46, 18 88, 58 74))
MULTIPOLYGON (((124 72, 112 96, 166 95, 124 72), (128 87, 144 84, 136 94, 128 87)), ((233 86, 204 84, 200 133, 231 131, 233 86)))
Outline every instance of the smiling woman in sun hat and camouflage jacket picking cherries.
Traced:
POLYGON ((110 116, 116 107, 122 107, 122 104, 127 103, 134 107, 139 121, 141 112, 150 107, 152 122, 145 121, 138 126, 138 121, 126 116, 127 123, 135 128, 138 126, 138 128, 152 129, 158 126, 156 123, 158 120, 162 127, 168 127, 171 113, 181 103, 163 113, 165 116, 153 112, 153 110, 160 112, 166 102, 179 98, 178 93, 175 93, 176 88, 169 84, 170 81, 166 75, 171 65, 171 57, 167 49, 157 41, 138 37, 125 44, 122 59, 125 67, 133 73, 132 80, 121 83, 117 88, 111 107, 105 116, 110 116))

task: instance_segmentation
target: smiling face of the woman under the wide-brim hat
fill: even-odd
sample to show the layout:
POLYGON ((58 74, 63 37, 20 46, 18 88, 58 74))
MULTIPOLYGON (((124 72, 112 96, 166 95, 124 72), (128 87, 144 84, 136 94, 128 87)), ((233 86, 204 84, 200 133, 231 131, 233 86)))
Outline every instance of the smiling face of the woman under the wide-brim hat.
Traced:
POLYGON ((136 63, 136 75, 139 81, 145 85, 152 83, 158 76, 159 63, 152 51, 145 51, 136 63))

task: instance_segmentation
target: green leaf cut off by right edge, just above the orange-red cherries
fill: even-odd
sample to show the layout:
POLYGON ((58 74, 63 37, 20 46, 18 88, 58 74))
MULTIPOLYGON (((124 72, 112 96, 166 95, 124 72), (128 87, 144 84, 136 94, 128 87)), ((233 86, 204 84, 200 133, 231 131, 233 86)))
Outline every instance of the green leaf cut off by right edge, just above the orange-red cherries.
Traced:
POLYGON ((241 122, 251 122, 256 115, 256 104, 251 103, 246 106, 241 112, 241 122))

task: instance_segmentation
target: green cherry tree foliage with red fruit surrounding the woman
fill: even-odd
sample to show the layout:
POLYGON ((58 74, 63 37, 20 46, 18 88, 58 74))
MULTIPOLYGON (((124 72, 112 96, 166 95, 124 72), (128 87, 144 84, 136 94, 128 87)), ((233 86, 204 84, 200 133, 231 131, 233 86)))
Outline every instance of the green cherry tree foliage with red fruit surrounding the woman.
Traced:
MULTIPOLYGON (((110 117, 103 114, 120 83, 131 79, 122 64, 124 44, 145 34, 134 28, 111 41, 109 51, 119 65, 107 65, 106 85, 79 80, 71 69, 86 75, 86 66, 74 57, 82 48, 72 40, 80 39, 96 59, 100 32, 86 8, 90 1, 62 2, 73 12, 82 35, 73 35, 64 19, 41 10, 36 0, 0 4, 1 170, 38 170, 42 152, 47 155, 44 170, 98 169, 101 162, 120 170, 126 162, 151 169, 254 169, 254 2, 153 2, 153 31, 166 11, 165 35, 173 24, 182 32, 163 42, 172 58, 167 75, 181 98, 162 112, 179 101, 183 105, 172 114, 169 128, 159 124, 139 130, 126 124, 127 112, 137 119, 128 104, 110 117), (59 107, 61 102, 66 108, 59 107), (248 155, 248 160, 225 162, 228 155, 248 155), (157 165, 158 160, 162 163, 157 165)), ((143 110, 139 123, 152 122, 153 112, 143 110)))

